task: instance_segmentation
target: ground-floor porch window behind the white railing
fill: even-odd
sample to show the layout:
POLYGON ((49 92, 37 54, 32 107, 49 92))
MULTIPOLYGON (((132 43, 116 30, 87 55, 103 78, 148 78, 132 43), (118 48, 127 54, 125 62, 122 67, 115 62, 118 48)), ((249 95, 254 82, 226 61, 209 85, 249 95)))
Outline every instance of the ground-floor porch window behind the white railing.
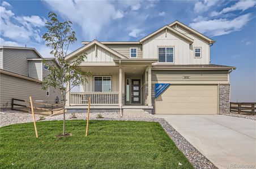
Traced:
POLYGON ((94 77, 94 91, 110 92, 111 91, 111 77, 110 76, 94 77))

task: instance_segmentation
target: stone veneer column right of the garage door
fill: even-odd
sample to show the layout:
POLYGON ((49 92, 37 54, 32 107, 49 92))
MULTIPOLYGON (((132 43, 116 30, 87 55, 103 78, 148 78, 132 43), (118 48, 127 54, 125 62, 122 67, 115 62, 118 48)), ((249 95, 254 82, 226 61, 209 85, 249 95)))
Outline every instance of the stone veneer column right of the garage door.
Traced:
POLYGON ((229 85, 230 84, 220 84, 219 90, 219 113, 229 113, 229 85))

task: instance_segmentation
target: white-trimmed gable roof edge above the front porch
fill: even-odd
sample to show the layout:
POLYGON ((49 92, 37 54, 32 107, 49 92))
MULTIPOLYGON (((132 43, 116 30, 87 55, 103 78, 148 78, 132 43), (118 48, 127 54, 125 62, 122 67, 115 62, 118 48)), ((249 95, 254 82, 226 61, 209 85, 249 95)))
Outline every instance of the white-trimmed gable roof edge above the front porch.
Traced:
POLYGON ((104 48, 106 51, 109 51, 110 53, 120 57, 121 59, 127 59, 126 56, 118 53, 117 51, 114 51, 112 48, 109 48, 108 46, 105 46, 102 43, 100 43, 99 41, 97 41, 96 39, 94 39, 93 41, 89 42, 87 45, 82 46, 82 47, 78 48, 77 50, 75 50, 74 52, 67 55, 65 57, 65 60, 72 58, 73 56, 79 54, 80 52, 83 52, 84 50, 88 49, 89 47, 92 47, 93 45, 100 46, 100 47, 104 48))

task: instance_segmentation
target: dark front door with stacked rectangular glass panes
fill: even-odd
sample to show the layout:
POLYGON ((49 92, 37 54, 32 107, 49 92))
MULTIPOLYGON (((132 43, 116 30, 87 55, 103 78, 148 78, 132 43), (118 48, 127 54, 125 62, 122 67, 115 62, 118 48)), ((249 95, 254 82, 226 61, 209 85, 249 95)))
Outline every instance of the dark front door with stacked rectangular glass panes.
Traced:
POLYGON ((140 104, 140 79, 131 79, 131 103, 140 104))

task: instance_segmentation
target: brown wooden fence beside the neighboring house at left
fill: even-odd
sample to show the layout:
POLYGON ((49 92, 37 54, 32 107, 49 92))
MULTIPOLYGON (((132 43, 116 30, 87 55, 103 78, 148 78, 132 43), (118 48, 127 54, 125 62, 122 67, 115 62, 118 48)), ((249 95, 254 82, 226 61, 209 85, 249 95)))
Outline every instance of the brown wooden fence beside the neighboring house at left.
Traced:
MULTIPOLYGON (((35 114, 41 115, 50 115, 57 114, 58 112, 63 112, 63 103, 58 104, 49 104, 49 103, 41 103, 37 101, 33 101, 33 108, 36 110, 35 114)), ((21 99, 11 99, 11 110, 16 110, 25 113, 31 113, 31 105, 28 100, 21 99)))

